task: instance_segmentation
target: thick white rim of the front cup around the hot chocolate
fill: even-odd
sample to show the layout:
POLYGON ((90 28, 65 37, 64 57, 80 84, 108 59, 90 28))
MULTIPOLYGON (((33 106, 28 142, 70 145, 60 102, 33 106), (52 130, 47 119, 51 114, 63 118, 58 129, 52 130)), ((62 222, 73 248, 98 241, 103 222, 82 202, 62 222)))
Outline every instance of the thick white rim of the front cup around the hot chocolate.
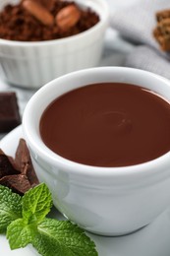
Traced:
MULTIPOLYGON (((114 176, 134 175, 134 174, 149 176, 150 172, 151 173, 160 172, 159 169, 161 169, 162 166, 168 164, 168 162, 170 160, 170 151, 155 160, 149 160, 149 161, 134 164, 134 165, 118 166, 118 167, 103 167, 103 166, 86 165, 83 163, 75 162, 72 160, 67 160, 63 157, 60 157, 59 155, 57 155, 54 152, 52 152, 51 150, 49 150, 45 146, 45 144, 43 144, 42 141, 41 142, 43 144, 43 147, 41 147, 42 145, 39 145, 37 143, 37 138, 40 139, 40 135, 38 135, 36 132, 34 132, 34 134, 32 132, 30 132, 31 125, 30 125, 30 120, 29 120, 28 116, 30 116, 31 111, 33 110, 33 107, 32 107, 33 103, 35 103, 35 101, 38 100, 37 99, 38 96, 45 94, 49 88, 53 87, 56 84, 56 82, 59 82, 60 80, 63 80, 68 77, 74 77, 75 74, 78 74, 78 73, 81 76, 82 74, 85 74, 87 72, 93 72, 95 70, 98 70, 98 71, 107 70, 107 71, 111 72, 111 71, 113 71, 113 69, 114 70, 121 69, 122 71, 135 72, 135 73, 138 73, 141 75, 147 74, 170 87, 170 82, 161 76, 155 75, 148 71, 143 71, 143 70, 135 69, 135 68, 127 68, 127 67, 88 68, 88 69, 79 70, 79 71, 69 73, 67 75, 64 75, 62 77, 59 77, 59 78, 49 82, 48 84, 46 84, 45 86, 40 88, 29 99, 26 109, 24 111, 24 116, 23 116, 23 130, 24 130, 25 138, 26 138, 26 141, 28 142, 28 147, 30 149, 33 149, 33 152, 35 150, 36 156, 40 156, 40 158, 47 160, 49 163, 50 162, 54 163, 54 165, 57 163, 57 165, 59 167, 61 167, 64 170, 68 169, 68 171, 71 171, 72 173, 82 173, 83 175, 103 176, 103 177, 104 176, 105 177, 108 177, 108 176, 114 177, 114 176), (80 168, 81 168, 81 170, 80 170, 80 168), (138 168, 138 171, 137 171, 137 168, 138 168)), ((49 103, 50 103, 50 101, 49 101, 49 103)), ((45 107, 44 107, 44 109, 45 109, 45 107)), ((163 169, 163 167, 162 167, 162 169, 163 169)))

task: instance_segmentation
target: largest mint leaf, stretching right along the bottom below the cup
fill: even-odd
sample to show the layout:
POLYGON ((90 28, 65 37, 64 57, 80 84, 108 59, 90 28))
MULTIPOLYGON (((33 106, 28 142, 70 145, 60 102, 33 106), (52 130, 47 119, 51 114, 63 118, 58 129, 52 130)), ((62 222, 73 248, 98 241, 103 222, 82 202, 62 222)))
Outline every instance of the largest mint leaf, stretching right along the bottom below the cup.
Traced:
POLYGON ((85 231, 69 221, 45 219, 37 230, 32 244, 42 256, 98 255, 85 231))

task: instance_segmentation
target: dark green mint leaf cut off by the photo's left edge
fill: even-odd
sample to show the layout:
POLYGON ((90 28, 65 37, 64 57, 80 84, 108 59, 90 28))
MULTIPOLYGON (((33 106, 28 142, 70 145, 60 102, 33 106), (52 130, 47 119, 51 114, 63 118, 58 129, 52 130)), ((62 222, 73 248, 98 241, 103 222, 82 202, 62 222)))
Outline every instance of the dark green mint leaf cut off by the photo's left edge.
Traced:
POLYGON ((22 197, 0 185, 0 233, 19 218, 22 218, 22 197))

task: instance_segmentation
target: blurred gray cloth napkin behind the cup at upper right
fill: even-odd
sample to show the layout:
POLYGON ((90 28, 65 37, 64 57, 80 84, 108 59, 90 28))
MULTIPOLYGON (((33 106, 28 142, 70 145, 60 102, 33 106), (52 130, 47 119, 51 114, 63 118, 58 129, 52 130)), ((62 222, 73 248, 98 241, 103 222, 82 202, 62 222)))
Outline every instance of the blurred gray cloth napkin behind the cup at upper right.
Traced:
POLYGON ((170 54, 160 50, 152 35, 155 13, 170 9, 170 0, 137 0, 134 5, 113 12, 111 27, 136 47, 125 59, 125 66, 153 72, 170 79, 170 54))

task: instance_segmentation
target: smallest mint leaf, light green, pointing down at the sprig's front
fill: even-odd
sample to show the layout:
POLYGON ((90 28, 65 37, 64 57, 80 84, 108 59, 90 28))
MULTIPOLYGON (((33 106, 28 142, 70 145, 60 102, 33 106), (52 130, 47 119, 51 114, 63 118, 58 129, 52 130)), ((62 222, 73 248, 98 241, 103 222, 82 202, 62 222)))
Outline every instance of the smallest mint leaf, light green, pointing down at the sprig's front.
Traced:
POLYGON ((7 239, 9 239, 11 249, 25 247, 34 238, 36 226, 27 224, 24 219, 18 219, 7 227, 7 239))

